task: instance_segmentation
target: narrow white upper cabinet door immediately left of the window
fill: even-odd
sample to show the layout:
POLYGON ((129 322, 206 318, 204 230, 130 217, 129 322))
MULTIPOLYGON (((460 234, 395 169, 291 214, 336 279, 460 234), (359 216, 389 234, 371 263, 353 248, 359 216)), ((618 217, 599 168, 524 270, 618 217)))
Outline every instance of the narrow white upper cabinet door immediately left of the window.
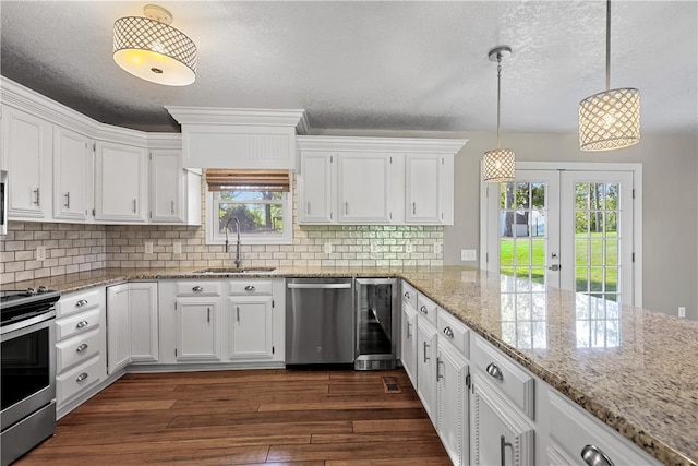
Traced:
POLYGON ((151 151, 151 222, 182 223, 183 181, 181 151, 151 151))

